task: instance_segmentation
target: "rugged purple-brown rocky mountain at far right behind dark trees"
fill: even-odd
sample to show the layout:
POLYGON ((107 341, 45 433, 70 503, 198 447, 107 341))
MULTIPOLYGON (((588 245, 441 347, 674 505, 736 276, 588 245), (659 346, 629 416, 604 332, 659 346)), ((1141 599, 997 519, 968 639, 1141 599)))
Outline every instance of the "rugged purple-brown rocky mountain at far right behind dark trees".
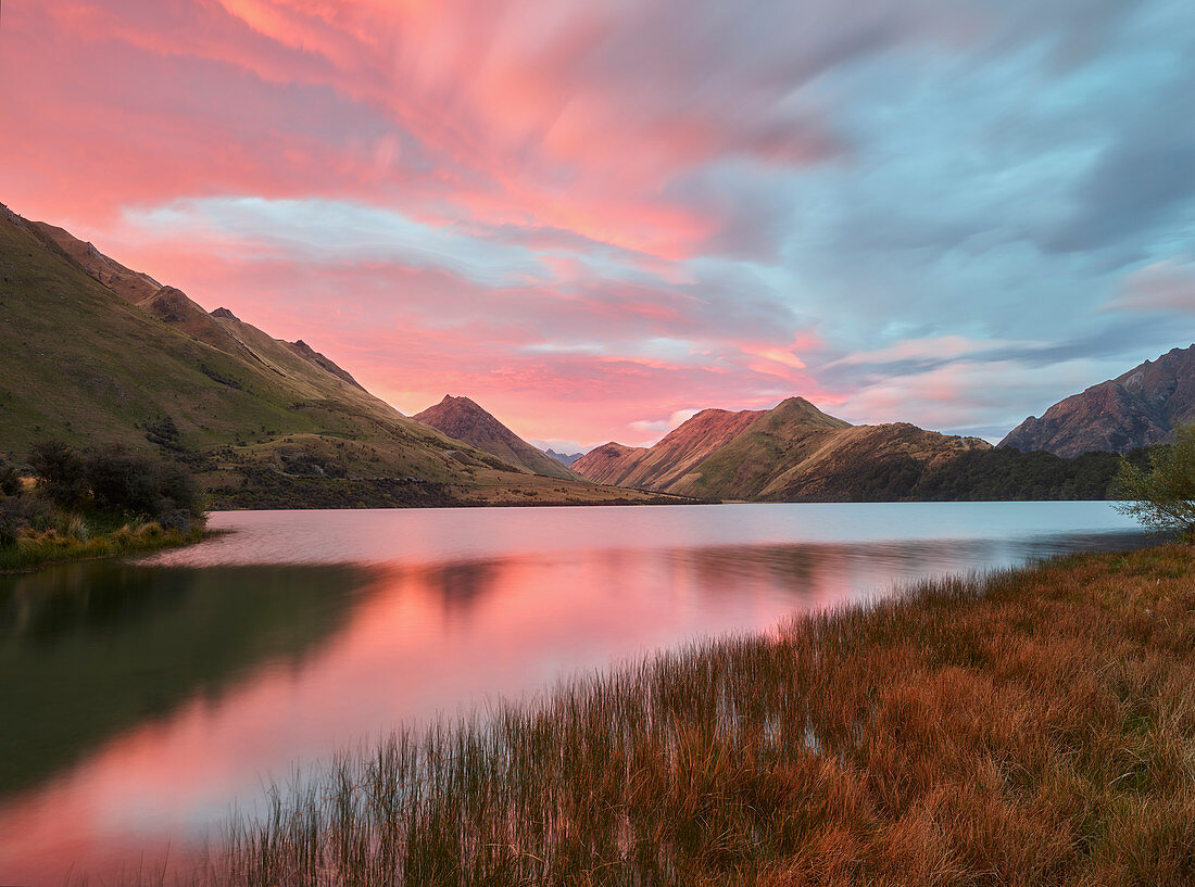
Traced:
POLYGON ((1195 345, 1173 349, 1128 372, 1030 415, 1000 446, 1056 456, 1128 452, 1165 443, 1176 425, 1195 421, 1195 345))

